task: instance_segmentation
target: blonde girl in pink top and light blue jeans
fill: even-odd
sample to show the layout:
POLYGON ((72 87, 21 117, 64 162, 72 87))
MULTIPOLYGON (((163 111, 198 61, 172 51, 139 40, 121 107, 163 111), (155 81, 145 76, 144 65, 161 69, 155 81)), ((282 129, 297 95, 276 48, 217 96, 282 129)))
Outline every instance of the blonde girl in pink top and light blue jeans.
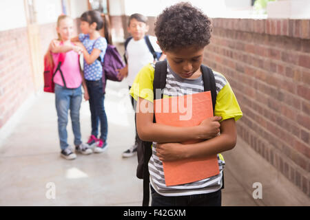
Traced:
POLYGON ((82 48, 74 45, 70 39, 73 34, 73 20, 61 15, 57 20, 56 31, 59 35, 57 41, 52 41, 48 50, 48 55, 54 62, 54 71, 56 71, 57 61, 60 53, 65 53, 65 61, 61 65, 63 72, 63 79, 60 71, 54 75, 55 83, 55 104, 58 115, 58 131, 61 145, 61 156, 65 159, 75 159, 76 154, 69 146, 67 139, 67 124, 68 124, 68 110, 70 109, 70 117, 72 120, 72 130, 74 133, 74 145, 76 152, 82 154, 92 153, 92 149, 88 148, 87 144, 81 141, 81 128, 79 111, 82 101, 81 83, 85 91, 84 98, 88 100, 88 92, 83 79, 83 74, 80 71, 79 52, 82 48), (64 80, 64 82, 63 82, 64 80))

